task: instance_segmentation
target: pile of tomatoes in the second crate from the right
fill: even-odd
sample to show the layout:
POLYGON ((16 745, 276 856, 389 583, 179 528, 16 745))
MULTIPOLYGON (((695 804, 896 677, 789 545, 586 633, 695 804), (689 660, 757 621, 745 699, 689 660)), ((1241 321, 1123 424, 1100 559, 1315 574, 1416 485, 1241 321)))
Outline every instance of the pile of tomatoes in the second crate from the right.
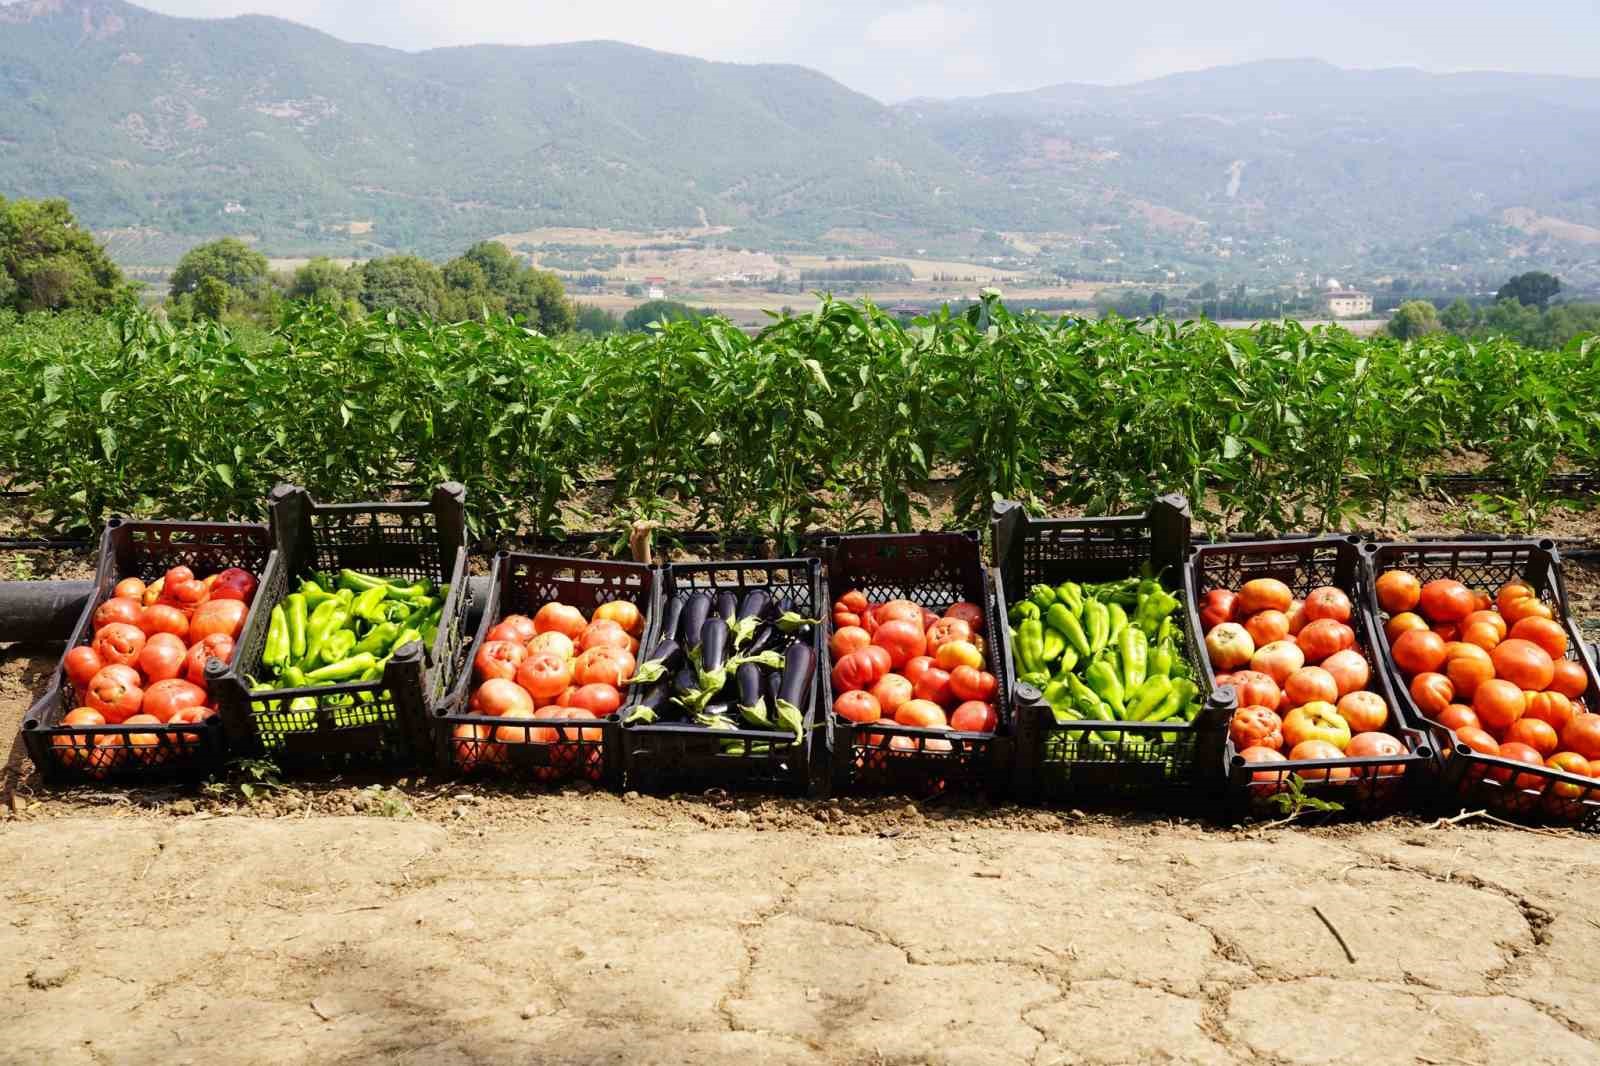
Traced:
MULTIPOLYGON (((1200 602, 1206 655, 1218 685, 1232 685, 1238 711, 1229 736, 1251 763, 1400 755, 1405 744, 1386 731, 1389 703, 1368 688, 1371 663, 1355 647, 1355 607, 1341 589, 1314 589, 1296 600, 1275 578, 1246 581, 1238 592, 1211 589, 1200 602)), ((1400 773, 1384 765, 1379 773, 1400 773)), ((1342 781, 1349 767, 1296 771, 1307 781, 1342 781)), ((1277 770, 1258 784, 1282 784, 1277 770)))

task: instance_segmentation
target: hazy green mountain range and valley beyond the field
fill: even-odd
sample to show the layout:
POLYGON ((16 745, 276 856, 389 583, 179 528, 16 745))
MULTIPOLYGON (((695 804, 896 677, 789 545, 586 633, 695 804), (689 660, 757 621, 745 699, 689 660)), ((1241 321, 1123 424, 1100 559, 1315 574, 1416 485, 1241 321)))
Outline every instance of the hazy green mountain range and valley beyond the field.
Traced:
POLYGON ((0 5, 0 195, 69 198, 125 259, 221 234, 443 254, 563 226, 1078 271, 1600 274, 1595 158, 1600 78, 1274 61, 885 106, 608 42, 405 53, 262 16, 0 5))

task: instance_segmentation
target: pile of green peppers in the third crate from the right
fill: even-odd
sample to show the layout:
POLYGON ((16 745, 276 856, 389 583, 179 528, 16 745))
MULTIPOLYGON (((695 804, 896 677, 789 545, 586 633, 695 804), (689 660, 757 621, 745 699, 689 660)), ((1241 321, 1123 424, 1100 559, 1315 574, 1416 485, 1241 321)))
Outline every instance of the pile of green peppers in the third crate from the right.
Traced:
POLYGON ((1200 687, 1179 645, 1179 605, 1152 578, 1035 584, 1011 608, 1018 680, 1045 693, 1056 722, 1192 722, 1200 687))

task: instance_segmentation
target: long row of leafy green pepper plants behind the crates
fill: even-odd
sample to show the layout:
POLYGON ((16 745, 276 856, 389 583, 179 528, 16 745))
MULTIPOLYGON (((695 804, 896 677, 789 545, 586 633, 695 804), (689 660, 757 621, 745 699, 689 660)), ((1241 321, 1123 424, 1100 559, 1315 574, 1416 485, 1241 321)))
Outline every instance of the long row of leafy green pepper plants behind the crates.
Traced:
POLYGON ((829 299, 757 336, 709 319, 602 339, 293 306, 264 344, 130 307, 0 322, 0 477, 61 531, 259 517, 280 480, 326 499, 459 480, 486 538, 603 527, 587 506, 792 546, 925 525, 930 477, 957 479, 960 525, 997 495, 1115 512, 1158 491, 1214 528, 1371 525, 1475 453, 1531 522, 1552 471, 1600 469, 1597 394, 1595 338, 1398 343, 997 298, 909 327, 829 299))

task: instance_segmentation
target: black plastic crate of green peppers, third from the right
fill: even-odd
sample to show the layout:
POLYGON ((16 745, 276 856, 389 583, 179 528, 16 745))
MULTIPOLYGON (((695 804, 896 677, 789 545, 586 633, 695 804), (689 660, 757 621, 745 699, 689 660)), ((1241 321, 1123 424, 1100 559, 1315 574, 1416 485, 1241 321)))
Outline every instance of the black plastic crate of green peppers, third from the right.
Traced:
MULTIPOLYGON (((998 608, 1008 611, 1040 583, 1117 581, 1144 570, 1181 595, 1189 535, 1189 501, 1176 495, 1155 499, 1142 515, 1102 519, 1032 519, 1021 504, 1000 501, 994 507, 998 608)), ((1219 693, 1194 722, 1058 722, 1040 690, 1018 683, 1010 626, 1002 623, 998 635, 1002 685, 1016 719, 1013 787, 1019 800, 1211 810, 1232 691, 1219 693)), ((1179 635, 1186 635, 1182 627, 1179 635)), ((1198 675, 1200 656, 1190 640, 1182 643, 1198 675)))

